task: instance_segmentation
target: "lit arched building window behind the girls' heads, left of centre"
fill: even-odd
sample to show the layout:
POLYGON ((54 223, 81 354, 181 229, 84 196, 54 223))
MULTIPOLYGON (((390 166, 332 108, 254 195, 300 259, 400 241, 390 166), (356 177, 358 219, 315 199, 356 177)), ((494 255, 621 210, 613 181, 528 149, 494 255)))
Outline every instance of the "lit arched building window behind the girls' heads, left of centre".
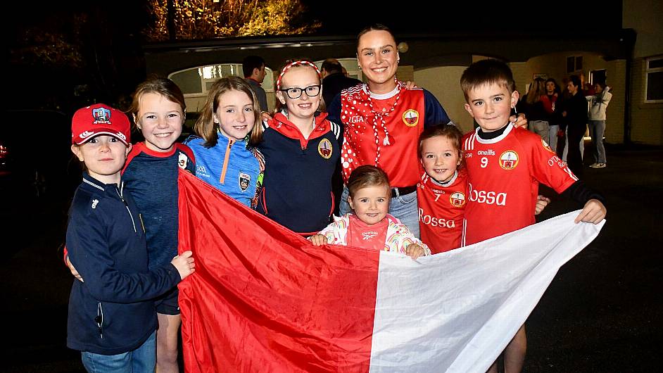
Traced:
MULTIPOLYGON (((231 75, 244 77, 241 63, 200 66, 173 72, 168 77, 182 89, 184 97, 199 97, 206 96, 212 84, 219 78, 231 75)), ((274 73, 270 68, 265 68, 265 80, 262 87, 265 92, 274 92, 274 73)))

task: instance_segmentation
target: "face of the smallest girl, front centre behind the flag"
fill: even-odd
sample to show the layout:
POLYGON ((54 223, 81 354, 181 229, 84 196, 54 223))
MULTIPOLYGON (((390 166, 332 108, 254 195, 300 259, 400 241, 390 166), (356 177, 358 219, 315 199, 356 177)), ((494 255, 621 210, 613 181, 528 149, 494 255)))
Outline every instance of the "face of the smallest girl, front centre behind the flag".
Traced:
POLYGON ((348 196, 348 203, 359 220, 367 225, 374 225, 389 213, 390 197, 389 185, 370 185, 358 189, 353 196, 348 196))

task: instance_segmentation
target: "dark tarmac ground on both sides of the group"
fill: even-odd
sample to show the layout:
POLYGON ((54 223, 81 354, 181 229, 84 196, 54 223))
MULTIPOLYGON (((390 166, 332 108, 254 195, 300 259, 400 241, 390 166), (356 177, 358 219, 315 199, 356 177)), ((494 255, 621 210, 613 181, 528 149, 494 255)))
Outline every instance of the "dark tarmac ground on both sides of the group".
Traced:
MULTIPOLYGON (((608 198, 600 236, 553 280, 526 323, 525 372, 658 371, 663 329, 663 149, 609 147, 586 182, 608 198)), ((588 162, 586 162, 588 163, 588 162)), ((541 219, 578 206, 553 201, 541 219)), ((6 336, 0 370, 83 372, 65 347, 72 278, 57 253, 66 198, 2 195, 0 298, 6 336)))

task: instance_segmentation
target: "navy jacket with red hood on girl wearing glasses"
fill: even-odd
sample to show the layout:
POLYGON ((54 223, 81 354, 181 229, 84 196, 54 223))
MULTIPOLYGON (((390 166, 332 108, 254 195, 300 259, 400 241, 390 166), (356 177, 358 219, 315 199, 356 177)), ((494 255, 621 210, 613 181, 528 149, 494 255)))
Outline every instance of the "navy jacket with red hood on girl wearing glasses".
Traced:
POLYGON ((327 227, 334 211, 331 175, 341 157, 343 130, 318 113, 305 139, 286 113, 263 123, 265 156, 259 213, 299 234, 310 236, 327 227))

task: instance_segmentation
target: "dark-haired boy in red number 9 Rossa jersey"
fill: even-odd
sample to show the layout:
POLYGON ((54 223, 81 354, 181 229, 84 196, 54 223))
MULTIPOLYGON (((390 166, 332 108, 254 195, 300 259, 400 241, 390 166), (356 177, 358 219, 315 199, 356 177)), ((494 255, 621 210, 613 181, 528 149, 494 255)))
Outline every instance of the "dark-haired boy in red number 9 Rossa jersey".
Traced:
MULTIPOLYGON (((460 85, 465 109, 479 124, 462 145, 469 181, 463 245, 534 224, 539 182, 584 204, 576 223, 603 220, 602 196, 580 182, 541 137, 509 122, 519 94, 512 89, 513 75, 505 63, 472 63, 460 85)), ((523 325, 505 349, 505 373, 520 372, 525 352, 523 325)), ((497 372, 496 364, 489 372, 497 372)))

